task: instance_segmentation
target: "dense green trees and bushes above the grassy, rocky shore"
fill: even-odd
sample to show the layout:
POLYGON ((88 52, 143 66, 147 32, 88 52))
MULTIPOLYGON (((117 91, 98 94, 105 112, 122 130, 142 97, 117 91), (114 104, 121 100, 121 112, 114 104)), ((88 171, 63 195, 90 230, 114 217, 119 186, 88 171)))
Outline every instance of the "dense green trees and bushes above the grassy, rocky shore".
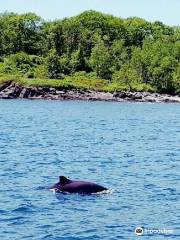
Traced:
POLYGON ((96 11, 56 21, 3 13, 0 74, 101 79, 115 90, 180 93, 180 27, 96 11))

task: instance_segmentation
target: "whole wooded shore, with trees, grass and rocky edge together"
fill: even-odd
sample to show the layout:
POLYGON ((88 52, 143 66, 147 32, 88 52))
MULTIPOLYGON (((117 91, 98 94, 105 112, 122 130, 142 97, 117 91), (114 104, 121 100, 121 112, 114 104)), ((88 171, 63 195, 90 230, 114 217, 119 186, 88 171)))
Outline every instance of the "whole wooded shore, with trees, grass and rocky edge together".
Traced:
POLYGON ((0 14, 0 98, 180 102, 180 27, 0 14), (18 90, 19 89, 19 90, 18 90))

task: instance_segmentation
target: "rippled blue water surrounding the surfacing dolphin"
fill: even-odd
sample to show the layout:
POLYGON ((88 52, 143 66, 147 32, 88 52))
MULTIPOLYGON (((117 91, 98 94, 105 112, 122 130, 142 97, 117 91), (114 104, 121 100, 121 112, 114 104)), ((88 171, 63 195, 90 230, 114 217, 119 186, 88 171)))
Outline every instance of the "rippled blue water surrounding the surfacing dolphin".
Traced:
POLYGON ((180 105, 0 101, 0 239, 180 239, 180 105), (113 189, 53 194, 59 175, 113 189))

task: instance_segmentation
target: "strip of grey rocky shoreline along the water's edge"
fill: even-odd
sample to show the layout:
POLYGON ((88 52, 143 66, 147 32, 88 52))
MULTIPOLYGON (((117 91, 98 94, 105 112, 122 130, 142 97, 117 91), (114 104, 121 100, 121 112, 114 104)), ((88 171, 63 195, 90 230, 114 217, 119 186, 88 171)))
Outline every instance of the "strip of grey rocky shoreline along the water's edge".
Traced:
POLYGON ((47 99, 115 102, 180 103, 179 95, 149 92, 100 92, 91 90, 62 90, 53 87, 24 87, 15 82, 0 85, 0 99, 47 99))

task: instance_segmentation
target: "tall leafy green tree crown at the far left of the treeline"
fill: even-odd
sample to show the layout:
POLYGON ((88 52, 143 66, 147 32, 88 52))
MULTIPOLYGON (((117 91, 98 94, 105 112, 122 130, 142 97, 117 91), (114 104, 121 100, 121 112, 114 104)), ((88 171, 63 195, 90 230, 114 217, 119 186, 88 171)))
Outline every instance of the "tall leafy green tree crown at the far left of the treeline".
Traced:
POLYGON ((42 20, 34 13, 5 13, 0 16, 1 54, 24 51, 28 54, 43 52, 42 20))

